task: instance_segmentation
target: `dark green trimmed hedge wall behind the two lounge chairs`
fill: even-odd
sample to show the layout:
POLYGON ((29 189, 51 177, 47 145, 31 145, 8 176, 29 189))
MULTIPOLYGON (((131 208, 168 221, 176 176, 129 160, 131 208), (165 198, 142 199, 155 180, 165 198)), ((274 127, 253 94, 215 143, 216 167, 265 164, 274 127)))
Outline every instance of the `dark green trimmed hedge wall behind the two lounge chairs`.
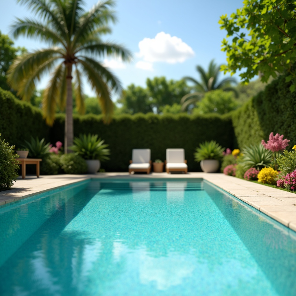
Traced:
MULTIPOLYGON (((110 145, 111 155, 102 168, 127 171, 133 148, 150 148, 151 160, 165 160, 166 148, 184 148, 189 171, 200 171, 194 150, 200 142, 216 140, 223 147, 234 148, 231 117, 220 115, 136 114, 115 117, 110 125, 101 116, 74 116, 74 136, 97 133, 110 145)), ((64 139, 64 116, 59 115, 51 130, 52 143, 64 139)))

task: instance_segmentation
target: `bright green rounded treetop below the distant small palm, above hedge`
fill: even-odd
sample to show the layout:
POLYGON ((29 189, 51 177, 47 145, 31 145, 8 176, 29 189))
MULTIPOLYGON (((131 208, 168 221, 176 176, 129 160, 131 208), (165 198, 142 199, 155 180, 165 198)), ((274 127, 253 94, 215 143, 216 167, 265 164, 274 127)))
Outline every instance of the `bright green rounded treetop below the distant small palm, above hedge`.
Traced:
POLYGON ((217 113, 225 114, 237 109, 238 103, 233 93, 221 89, 208 91, 205 96, 197 102, 197 108, 192 110, 193 114, 217 113))

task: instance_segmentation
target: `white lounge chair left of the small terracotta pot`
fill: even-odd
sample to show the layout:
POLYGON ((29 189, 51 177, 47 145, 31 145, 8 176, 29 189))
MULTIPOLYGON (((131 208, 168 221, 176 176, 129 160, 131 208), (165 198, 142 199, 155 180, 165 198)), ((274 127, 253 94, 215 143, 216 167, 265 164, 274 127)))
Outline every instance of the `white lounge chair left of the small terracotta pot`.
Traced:
POLYGON ((151 172, 150 149, 133 149, 128 172, 151 172))

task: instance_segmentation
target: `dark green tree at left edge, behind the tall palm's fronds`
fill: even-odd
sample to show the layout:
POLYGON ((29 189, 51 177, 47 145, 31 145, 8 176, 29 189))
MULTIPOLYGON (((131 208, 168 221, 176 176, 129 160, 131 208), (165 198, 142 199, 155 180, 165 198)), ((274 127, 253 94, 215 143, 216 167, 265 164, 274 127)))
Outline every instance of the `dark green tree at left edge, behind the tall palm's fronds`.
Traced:
POLYGON ((18 54, 26 52, 24 47, 14 47, 14 42, 0 31, 0 87, 10 91, 11 87, 7 84, 7 70, 12 64, 13 59, 18 54))

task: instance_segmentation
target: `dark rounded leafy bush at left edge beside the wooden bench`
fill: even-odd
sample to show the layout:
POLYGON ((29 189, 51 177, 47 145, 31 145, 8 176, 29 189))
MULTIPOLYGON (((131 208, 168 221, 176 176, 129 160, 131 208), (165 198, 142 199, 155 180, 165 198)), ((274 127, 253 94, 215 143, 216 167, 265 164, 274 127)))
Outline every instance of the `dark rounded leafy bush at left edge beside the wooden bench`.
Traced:
POLYGON ((16 158, 19 156, 14 149, 15 146, 9 146, 9 143, 0 139, 0 191, 9 189, 13 185, 12 181, 17 179, 19 166, 16 158))

